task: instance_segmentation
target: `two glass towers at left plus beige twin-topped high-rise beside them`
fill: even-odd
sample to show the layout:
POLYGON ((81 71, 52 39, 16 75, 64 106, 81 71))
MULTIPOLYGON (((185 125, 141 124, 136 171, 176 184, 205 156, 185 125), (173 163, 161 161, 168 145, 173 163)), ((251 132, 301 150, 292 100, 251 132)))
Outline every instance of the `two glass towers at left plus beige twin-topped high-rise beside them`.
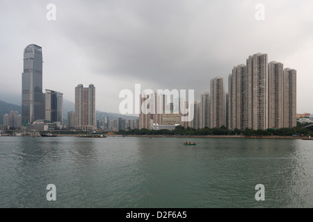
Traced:
MULTIPOLYGON (((69 125, 90 130, 95 128, 95 87, 75 88, 75 112, 69 114, 69 125)), ((63 93, 46 89, 42 92, 42 48, 29 44, 24 49, 22 73, 22 126, 33 128, 36 123, 63 125, 63 93)))

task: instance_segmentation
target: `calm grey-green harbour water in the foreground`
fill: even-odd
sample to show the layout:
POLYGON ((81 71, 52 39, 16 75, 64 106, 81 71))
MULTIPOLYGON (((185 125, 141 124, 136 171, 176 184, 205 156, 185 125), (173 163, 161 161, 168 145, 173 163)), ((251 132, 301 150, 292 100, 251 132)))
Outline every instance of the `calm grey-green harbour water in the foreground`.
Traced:
POLYGON ((313 142, 0 137, 0 207, 313 207, 313 142))

